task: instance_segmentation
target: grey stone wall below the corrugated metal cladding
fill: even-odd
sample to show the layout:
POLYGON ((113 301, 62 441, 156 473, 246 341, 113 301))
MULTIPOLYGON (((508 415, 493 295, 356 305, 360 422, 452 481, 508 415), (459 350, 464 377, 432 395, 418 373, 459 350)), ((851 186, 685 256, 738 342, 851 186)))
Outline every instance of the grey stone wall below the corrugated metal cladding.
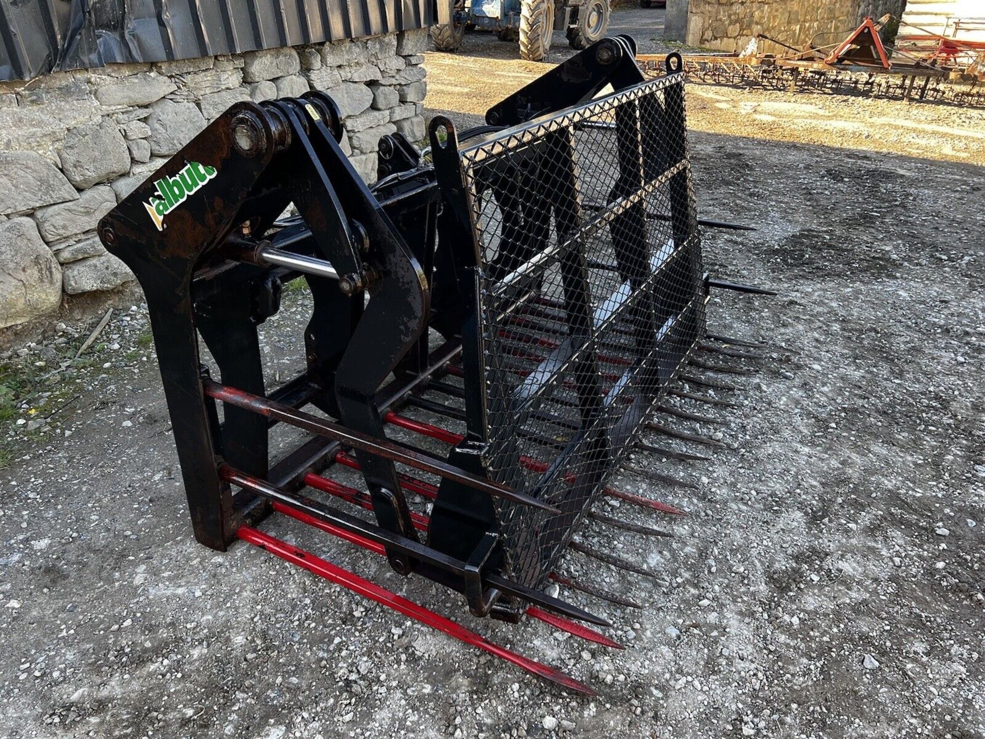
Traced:
POLYGON ((426 47, 407 31, 0 83, 0 329, 132 281, 99 219, 233 102, 325 91, 373 181, 381 136, 425 137, 426 47))

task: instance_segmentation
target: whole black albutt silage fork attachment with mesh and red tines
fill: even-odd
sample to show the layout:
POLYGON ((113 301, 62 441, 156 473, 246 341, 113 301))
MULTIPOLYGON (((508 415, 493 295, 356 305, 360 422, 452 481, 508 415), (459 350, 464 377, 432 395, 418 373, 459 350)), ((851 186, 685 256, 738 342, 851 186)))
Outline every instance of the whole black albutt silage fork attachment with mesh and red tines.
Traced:
POLYGON ((575 623, 606 619, 545 589, 638 606, 562 561, 650 573, 575 535, 588 521, 666 535, 593 506, 615 497, 681 513, 610 479, 630 450, 702 458, 644 431, 718 445, 673 428, 710 419, 670 399, 728 403, 686 389, 725 386, 688 368, 707 368, 702 349, 748 356, 705 331, 715 284, 701 264, 680 56, 646 82, 634 52, 627 37, 603 39, 495 105, 485 126, 459 133, 434 118, 429 160, 384 137, 372 188, 339 146, 328 96, 236 103, 102 220, 147 297, 201 543, 248 541, 593 692, 257 526, 276 511, 461 593, 474 616, 527 615, 619 646, 575 623), (257 326, 297 279, 313 304, 306 366, 268 388, 257 326), (271 462, 279 424, 306 435, 271 462), (360 483, 345 482, 354 473, 360 483))

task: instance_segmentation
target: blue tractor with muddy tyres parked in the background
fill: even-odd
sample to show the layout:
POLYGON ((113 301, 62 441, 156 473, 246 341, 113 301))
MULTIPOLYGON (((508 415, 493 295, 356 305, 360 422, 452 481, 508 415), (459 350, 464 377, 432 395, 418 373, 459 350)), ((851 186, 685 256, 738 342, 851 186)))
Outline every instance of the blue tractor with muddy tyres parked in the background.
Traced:
POLYGON ((609 0, 452 0, 450 22, 431 28, 438 51, 457 51, 468 31, 520 41, 520 58, 544 61, 556 26, 571 48, 584 49, 609 29, 609 0))

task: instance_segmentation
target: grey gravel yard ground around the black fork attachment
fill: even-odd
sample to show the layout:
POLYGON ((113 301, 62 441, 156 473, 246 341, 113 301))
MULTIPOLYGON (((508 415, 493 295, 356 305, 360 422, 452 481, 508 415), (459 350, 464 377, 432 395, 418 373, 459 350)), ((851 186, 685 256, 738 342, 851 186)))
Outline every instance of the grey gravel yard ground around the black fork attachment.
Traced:
MULTIPOLYGON (((484 105, 469 56, 436 58, 428 104, 463 120, 525 81, 495 78, 484 105)), ((689 91, 699 212, 759 228, 708 234, 706 263, 779 296, 709 306, 713 330, 768 342, 764 360, 730 361, 749 374, 721 375, 741 389, 718 395, 740 408, 689 407, 723 426, 681 426, 720 432, 728 448, 693 464, 633 461, 696 490, 616 480, 686 509, 657 518, 610 506, 674 537, 596 524, 584 534, 658 576, 565 564, 643 605, 564 593, 614 621, 624 650, 461 616, 457 598, 379 558, 264 524, 565 669, 598 698, 561 693, 251 547, 197 545, 135 303, 79 361, 95 321, 61 326, 2 366, 17 399, 8 393, 0 422, 0 736, 985 737, 982 169, 934 156, 932 142, 952 141, 940 131, 917 156, 877 137, 873 151, 836 133, 792 143, 796 116, 746 125, 755 118, 717 95, 788 99, 689 91)), ((796 101, 867 115, 862 101, 796 101)), ((967 111, 894 104, 913 124, 969 125, 967 111)), ((263 326, 271 373, 299 362, 307 311, 304 294, 289 294, 263 326)))

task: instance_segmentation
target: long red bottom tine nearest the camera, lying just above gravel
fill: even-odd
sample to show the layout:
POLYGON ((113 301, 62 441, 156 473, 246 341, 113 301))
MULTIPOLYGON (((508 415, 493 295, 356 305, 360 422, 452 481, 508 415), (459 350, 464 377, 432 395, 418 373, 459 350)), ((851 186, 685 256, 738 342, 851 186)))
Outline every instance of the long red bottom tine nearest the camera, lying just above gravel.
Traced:
POLYGON ((414 603, 396 593, 387 590, 382 585, 377 585, 375 582, 370 582, 369 580, 360 577, 358 574, 344 570, 343 568, 333 565, 320 557, 315 557, 302 549, 295 546, 287 544, 279 539, 263 533, 250 526, 240 526, 239 530, 236 531, 236 535, 245 542, 249 542, 261 549, 266 549, 271 554, 286 560, 303 570, 307 570, 321 577, 324 577, 329 582, 334 582, 337 585, 352 590, 355 593, 360 594, 365 598, 374 600, 387 608, 391 608, 398 613, 402 613, 415 621, 419 621, 422 624, 426 624, 433 629, 438 630, 449 637, 457 638, 472 646, 476 646, 483 651, 487 651, 501 659, 505 659, 507 662, 515 664, 523 670, 526 670, 532 675, 537 675, 538 677, 549 680, 552 683, 557 683, 558 685, 567 688, 568 690, 576 691, 577 693, 583 693, 587 696, 598 695, 592 688, 581 683, 569 675, 564 674, 560 670, 549 667, 548 665, 541 664, 540 662, 525 657, 522 654, 518 654, 504 646, 490 641, 485 637, 481 637, 469 629, 466 629, 461 624, 457 624, 450 619, 446 619, 434 611, 425 608, 422 605, 414 603))

